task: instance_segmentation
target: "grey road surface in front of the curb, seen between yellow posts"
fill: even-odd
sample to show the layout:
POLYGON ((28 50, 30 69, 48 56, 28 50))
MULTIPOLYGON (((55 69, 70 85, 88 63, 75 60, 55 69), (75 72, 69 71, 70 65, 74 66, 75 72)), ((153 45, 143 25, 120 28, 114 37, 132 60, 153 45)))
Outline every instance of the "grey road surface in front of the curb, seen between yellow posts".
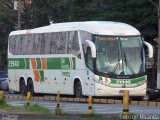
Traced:
MULTIPOLYGON (((7 100, 13 106, 22 106, 25 100, 7 100)), ((55 110, 55 101, 32 101, 33 104, 40 104, 48 109, 55 110)), ((60 102, 60 109, 66 113, 87 114, 87 103, 60 102)), ((122 114, 123 105, 121 104, 93 104, 93 112, 96 114, 122 114)), ((133 114, 160 115, 160 106, 141 106, 129 105, 129 111, 133 114)))

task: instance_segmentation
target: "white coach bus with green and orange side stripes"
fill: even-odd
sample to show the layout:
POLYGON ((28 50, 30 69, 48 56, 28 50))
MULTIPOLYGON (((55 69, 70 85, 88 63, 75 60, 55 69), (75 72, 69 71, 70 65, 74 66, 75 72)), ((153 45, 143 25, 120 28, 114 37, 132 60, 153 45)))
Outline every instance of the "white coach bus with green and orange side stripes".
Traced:
POLYGON ((84 21, 54 23, 13 31, 8 40, 9 89, 82 97, 145 96, 144 45, 140 32, 125 23, 84 21))

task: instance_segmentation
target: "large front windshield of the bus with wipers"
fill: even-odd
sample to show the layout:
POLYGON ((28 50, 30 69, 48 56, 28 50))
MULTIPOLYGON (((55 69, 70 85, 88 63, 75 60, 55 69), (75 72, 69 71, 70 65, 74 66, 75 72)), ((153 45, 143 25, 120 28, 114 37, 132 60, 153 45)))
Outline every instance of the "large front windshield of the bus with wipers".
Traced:
POLYGON ((141 37, 94 36, 96 70, 108 75, 135 75, 145 72, 141 37))

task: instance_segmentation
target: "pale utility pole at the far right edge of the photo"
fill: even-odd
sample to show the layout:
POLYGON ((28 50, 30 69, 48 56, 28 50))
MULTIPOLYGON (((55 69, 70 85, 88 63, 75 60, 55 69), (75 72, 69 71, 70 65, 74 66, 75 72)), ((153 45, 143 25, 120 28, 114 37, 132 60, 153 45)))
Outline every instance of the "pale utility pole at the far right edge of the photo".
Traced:
POLYGON ((157 61, 157 88, 160 89, 160 0, 158 12, 158 61, 157 61))

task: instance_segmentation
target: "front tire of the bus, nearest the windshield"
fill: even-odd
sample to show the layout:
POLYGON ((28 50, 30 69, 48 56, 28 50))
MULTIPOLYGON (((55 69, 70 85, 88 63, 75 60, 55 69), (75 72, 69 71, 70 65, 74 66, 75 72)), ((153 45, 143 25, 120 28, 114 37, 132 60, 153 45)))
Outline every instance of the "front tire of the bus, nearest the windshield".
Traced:
POLYGON ((82 95, 82 86, 81 86, 80 81, 75 83, 74 94, 75 94, 76 98, 82 98, 83 97, 83 95, 82 95))

